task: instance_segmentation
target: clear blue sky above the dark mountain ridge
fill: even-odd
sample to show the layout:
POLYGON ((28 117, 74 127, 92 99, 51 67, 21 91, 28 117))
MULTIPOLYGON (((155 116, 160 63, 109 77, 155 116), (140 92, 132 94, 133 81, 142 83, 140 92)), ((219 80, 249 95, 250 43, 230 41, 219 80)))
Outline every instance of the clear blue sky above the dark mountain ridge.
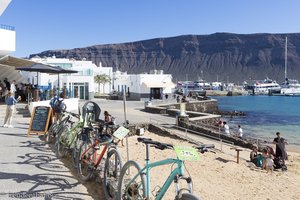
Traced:
POLYGON ((12 0, 0 24, 16 52, 132 42, 185 34, 299 33, 300 0, 12 0))

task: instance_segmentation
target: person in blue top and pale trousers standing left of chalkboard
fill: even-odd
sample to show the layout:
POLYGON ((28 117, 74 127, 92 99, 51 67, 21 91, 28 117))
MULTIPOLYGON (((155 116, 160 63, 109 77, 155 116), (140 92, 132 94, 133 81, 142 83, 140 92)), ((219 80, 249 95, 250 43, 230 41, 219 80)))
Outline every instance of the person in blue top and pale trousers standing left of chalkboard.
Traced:
POLYGON ((13 128, 12 125, 12 114, 15 108, 15 104, 21 100, 21 97, 19 96, 18 99, 15 99, 14 96, 12 96, 12 92, 9 91, 7 93, 7 96, 5 98, 5 104, 6 104, 6 114, 4 119, 4 125, 3 127, 13 128))

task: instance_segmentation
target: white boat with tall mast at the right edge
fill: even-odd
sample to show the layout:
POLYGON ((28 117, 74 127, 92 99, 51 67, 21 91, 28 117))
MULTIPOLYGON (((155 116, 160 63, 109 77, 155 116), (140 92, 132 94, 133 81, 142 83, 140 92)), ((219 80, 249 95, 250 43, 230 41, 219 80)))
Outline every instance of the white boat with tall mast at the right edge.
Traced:
POLYGON ((300 83, 298 80, 287 77, 287 37, 285 38, 285 82, 281 85, 280 94, 284 96, 300 96, 300 83))

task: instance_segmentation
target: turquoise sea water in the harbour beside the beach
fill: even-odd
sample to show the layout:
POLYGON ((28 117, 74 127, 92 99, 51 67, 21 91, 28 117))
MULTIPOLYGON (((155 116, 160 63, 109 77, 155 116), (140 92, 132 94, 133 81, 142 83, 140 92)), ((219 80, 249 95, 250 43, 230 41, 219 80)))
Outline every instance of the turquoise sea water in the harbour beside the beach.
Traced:
POLYGON ((231 130, 240 124, 245 135, 272 141, 277 131, 290 144, 300 145, 300 97, 233 96, 213 97, 220 110, 243 111, 244 117, 227 118, 231 130))

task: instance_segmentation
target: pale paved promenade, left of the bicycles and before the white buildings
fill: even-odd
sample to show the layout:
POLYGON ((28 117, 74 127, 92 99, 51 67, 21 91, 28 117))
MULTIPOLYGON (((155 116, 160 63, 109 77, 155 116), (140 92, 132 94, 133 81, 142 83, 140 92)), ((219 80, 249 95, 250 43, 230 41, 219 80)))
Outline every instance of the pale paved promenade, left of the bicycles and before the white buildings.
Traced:
MULTIPOLYGON (((117 123, 124 122, 122 101, 94 99, 101 107, 101 118, 107 110, 117 123)), ((80 102, 83 105, 84 101, 80 102)), ((27 137, 30 118, 22 114, 25 104, 18 104, 14 128, 2 127, 6 106, 0 105, 0 199, 104 199, 100 183, 81 184, 76 171, 65 160, 56 158, 51 148, 37 135, 27 137), (66 167, 67 166, 67 167, 66 167), (97 184, 97 185, 96 185, 97 184)), ((131 123, 175 123, 168 116, 141 111, 144 102, 127 102, 127 119, 131 123)))

